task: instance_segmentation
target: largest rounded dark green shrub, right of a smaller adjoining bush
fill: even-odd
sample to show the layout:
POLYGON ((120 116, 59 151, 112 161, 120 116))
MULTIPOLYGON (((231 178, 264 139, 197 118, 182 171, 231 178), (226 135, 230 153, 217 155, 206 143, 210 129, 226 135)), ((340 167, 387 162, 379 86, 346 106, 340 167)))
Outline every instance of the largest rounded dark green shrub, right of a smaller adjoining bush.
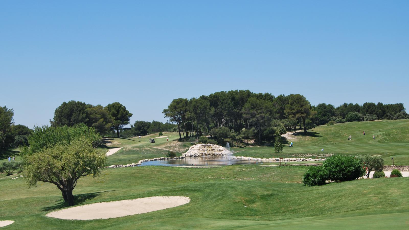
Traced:
POLYGON ((355 180, 365 174, 361 160, 353 156, 334 155, 327 158, 322 166, 328 171, 331 180, 355 180))

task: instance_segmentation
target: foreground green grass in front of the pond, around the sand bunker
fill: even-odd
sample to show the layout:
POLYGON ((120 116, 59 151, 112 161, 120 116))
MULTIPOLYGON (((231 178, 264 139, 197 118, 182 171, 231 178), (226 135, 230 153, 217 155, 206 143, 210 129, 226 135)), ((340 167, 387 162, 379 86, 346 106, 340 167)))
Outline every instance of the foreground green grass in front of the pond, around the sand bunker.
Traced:
POLYGON ((39 183, 27 188, 23 178, 2 178, 0 219, 16 221, 4 229, 409 227, 409 178, 305 187, 301 184, 305 170, 303 166, 256 165, 103 169, 97 178, 79 180, 74 189, 79 204, 148 196, 189 196, 191 202, 156 212, 92 221, 46 217, 48 212, 65 207, 55 185, 39 183))

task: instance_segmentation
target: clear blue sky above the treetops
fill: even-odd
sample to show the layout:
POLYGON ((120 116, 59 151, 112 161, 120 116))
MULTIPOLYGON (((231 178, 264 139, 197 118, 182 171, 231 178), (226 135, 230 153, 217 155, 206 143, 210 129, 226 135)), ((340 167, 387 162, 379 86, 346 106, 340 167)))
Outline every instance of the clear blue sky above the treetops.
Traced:
POLYGON ((158 120, 174 98, 249 89, 409 105, 409 1, 1 1, 0 106, 63 101, 158 120))

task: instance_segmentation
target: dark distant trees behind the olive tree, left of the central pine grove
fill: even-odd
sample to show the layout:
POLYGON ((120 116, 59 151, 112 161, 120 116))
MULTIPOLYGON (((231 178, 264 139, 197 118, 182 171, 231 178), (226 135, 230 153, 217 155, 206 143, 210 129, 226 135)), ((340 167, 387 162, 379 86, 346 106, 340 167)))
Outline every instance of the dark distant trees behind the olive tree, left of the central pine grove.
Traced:
MULTIPOLYGON (((0 149, 7 147, 20 147, 29 145, 28 136, 33 129, 14 124, 14 111, 6 106, 0 107, 0 149)), ((129 124, 130 113, 124 105, 119 102, 107 106, 85 104, 81 101, 63 102, 54 111, 54 118, 50 120, 52 127, 75 126, 85 124, 93 127, 101 136, 116 135, 126 138, 137 135, 147 135, 163 131, 174 131, 175 124, 166 122, 136 121, 130 128, 124 128, 129 124)), ((36 129, 36 127, 34 127, 36 129)))

